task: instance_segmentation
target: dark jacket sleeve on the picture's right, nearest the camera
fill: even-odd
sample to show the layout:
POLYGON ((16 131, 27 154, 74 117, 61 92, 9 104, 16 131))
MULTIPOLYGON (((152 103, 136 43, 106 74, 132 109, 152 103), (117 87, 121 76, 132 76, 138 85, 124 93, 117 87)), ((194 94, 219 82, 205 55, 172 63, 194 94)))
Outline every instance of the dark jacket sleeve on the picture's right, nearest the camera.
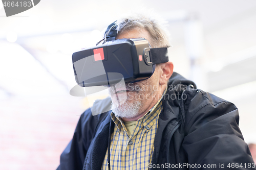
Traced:
POLYGON ((238 124, 236 106, 198 90, 186 112, 183 147, 188 164, 207 169, 255 169, 238 124))

